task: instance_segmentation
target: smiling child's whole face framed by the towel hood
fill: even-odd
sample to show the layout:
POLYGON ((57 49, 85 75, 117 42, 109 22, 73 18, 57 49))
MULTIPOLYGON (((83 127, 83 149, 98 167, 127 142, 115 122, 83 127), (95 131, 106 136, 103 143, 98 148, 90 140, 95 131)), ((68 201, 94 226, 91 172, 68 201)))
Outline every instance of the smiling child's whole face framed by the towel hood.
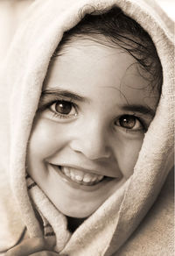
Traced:
POLYGON ((66 216, 88 217, 133 173, 158 92, 121 48, 77 39, 48 70, 27 172, 66 216))

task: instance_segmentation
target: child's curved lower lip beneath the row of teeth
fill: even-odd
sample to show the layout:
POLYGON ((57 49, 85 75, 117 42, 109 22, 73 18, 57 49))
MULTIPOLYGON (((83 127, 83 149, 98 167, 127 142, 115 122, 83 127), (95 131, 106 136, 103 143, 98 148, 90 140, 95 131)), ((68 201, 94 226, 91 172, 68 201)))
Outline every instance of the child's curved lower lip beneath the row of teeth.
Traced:
POLYGON ((72 188, 82 189, 85 191, 95 191, 105 186, 107 183, 109 183, 109 181, 114 181, 117 179, 117 178, 105 177, 102 179, 102 181, 99 181, 95 185, 82 185, 71 180, 69 177, 66 176, 66 174, 63 174, 58 166, 51 165, 51 167, 53 168, 54 171, 56 171, 57 174, 59 174, 59 177, 61 178, 61 180, 65 181, 67 185, 69 185, 72 188))

